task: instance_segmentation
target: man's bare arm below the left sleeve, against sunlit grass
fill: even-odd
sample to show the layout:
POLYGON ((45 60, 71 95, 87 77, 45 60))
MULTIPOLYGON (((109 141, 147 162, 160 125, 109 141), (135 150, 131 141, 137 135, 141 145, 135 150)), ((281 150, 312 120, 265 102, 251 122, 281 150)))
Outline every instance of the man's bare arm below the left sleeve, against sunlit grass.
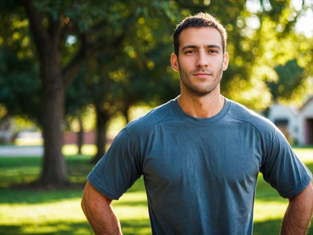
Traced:
POLYGON ((81 207, 97 235, 122 234, 121 225, 113 211, 111 201, 112 199, 101 194, 87 182, 81 207))

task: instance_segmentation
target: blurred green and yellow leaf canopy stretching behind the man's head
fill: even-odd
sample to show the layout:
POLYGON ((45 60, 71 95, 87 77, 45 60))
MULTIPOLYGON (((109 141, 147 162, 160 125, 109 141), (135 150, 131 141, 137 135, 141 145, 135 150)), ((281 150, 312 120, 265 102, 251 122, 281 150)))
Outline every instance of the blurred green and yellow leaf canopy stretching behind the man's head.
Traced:
MULTIPOLYGON (((293 27, 301 11, 296 11, 290 1, 260 1, 260 8, 256 9, 249 8, 249 1, 226 0, 177 2, 159 0, 150 3, 142 0, 127 3, 45 0, 34 3, 46 15, 45 27, 48 28, 52 24, 51 19, 61 19, 65 24, 76 25, 61 40, 63 66, 66 66, 78 52, 82 44, 80 38, 82 33, 88 34, 90 44, 97 46, 102 44, 96 56, 98 59, 89 61, 77 77, 77 79, 84 77, 80 79, 80 85, 73 83, 70 88, 71 91, 67 96, 67 110, 70 113, 86 106, 88 102, 93 102, 92 99, 101 99, 103 103, 119 100, 112 104, 116 106, 117 103, 125 101, 159 104, 178 95, 179 79, 177 73, 171 71, 169 63, 173 51, 171 35, 175 25, 183 17, 199 11, 215 15, 228 32, 227 51, 230 64, 223 74, 221 83, 223 95, 256 110, 262 110, 269 105, 272 95, 274 99, 279 95, 267 85, 283 83, 278 81, 274 68, 284 66, 286 62, 293 60, 299 60, 300 67, 304 68, 302 76, 297 77, 297 82, 290 83, 288 89, 285 86, 286 92, 283 97, 290 97, 295 89, 299 90, 299 86, 303 86, 303 79, 312 74, 309 66, 305 66, 312 60, 312 56, 309 57, 308 54, 312 48, 312 40, 308 41, 302 35, 295 35, 293 27), (250 24, 253 19, 259 21, 259 26, 254 27, 250 24), (73 43, 67 41, 69 36, 74 39, 73 43), (295 43, 297 41, 299 43, 295 43), (294 54, 295 50, 290 50, 290 46, 295 44, 297 44, 295 50, 300 53, 294 54), (84 91, 83 88, 87 86, 83 84, 93 88, 84 91), (102 93, 107 95, 105 97, 96 95, 102 93)), ((302 11, 307 7, 303 5, 302 11)), ((36 113, 32 108, 38 107, 40 94, 38 91, 40 83, 37 79, 38 59, 28 30, 28 21, 24 17, 23 8, 18 4, 12 4, 12 1, 4 1, 0 9, 3 11, 1 21, 9 26, 1 29, 2 39, 0 39, 5 42, 1 47, 1 60, 7 61, 8 56, 13 58, 15 55, 15 58, 8 61, 13 60, 11 65, 18 65, 17 67, 21 68, 21 72, 17 70, 12 72, 12 69, 5 69, 9 62, 2 63, 1 75, 11 77, 10 80, 19 80, 17 81, 19 84, 23 81, 23 86, 20 87, 28 87, 21 94, 17 88, 8 88, 17 87, 16 83, 12 85, 9 82, 2 82, 1 87, 4 91, 0 90, 2 93, 0 102, 14 107, 15 112, 9 109, 12 114, 28 111, 36 113), (25 104, 25 97, 30 97, 28 103, 31 105, 25 104), (19 105, 21 101, 24 102, 19 105), (17 105, 13 106, 14 102, 17 105)), ((116 112, 118 109, 112 110, 116 112)))

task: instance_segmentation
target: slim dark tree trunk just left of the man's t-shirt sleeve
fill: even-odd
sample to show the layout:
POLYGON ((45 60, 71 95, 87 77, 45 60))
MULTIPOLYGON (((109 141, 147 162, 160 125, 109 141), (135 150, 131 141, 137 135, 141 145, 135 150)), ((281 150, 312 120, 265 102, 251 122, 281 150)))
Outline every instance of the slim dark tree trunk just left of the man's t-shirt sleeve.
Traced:
POLYGON ((97 163, 102 156, 105 154, 105 143, 106 143, 106 124, 109 121, 109 114, 107 111, 101 110, 96 107, 97 115, 97 154, 91 160, 93 163, 97 163))

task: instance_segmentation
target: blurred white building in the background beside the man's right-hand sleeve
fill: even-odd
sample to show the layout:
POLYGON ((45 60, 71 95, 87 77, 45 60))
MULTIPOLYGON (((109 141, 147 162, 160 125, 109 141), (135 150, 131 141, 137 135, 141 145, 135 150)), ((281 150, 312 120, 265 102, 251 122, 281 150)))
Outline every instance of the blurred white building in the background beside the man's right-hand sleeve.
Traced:
POLYGON ((293 140, 299 145, 313 145, 313 97, 300 109, 275 103, 269 107, 267 118, 289 141, 293 140))

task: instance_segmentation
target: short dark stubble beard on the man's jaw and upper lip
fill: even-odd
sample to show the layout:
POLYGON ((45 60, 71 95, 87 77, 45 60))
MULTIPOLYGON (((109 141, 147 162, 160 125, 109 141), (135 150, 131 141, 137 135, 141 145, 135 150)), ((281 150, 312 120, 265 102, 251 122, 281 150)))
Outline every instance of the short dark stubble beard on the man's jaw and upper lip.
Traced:
POLYGON ((216 72, 213 70, 209 70, 209 69, 197 69, 197 70, 191 71, 189 74, 180 67, 179 75, 180 75, 181 82, 187 87, 187 89, 191 93, 193 93, 196 96, 205 96, 205 95, 208 95, 211 91, 213 91, 217 87, 219 82, 222 80, 223 64, 221 65, 220 69, 217 70, 216 72), (212 78, 205 78, 205 79, 212 79, 212 81, 205 87, 197 86, 196 84, 192 83, 190 79, 193 76, 193 74, 197 74, 197 73, 211 74, 212 78))

